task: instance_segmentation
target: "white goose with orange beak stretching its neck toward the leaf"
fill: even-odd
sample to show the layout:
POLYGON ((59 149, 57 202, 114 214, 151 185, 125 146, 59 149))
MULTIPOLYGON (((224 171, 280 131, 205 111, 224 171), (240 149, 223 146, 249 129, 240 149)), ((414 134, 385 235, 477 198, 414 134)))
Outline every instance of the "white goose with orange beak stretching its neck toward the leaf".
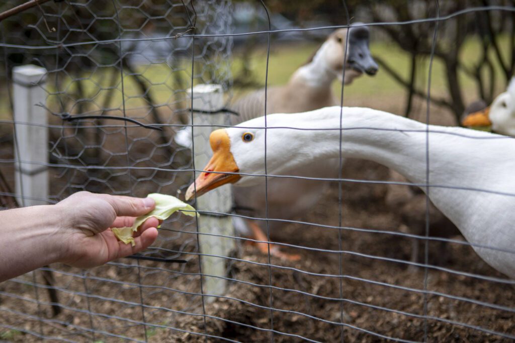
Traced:
MULTIPOLYGON (((287 175, 291 170, 337 158, 340 111, 344 157, 376 161, 415 184, 426 183, 428 136, 431 201, 475 244, 473 248, 481 258, 515 278, 515 159, 506 158, 515 155, 514 139, 427 126, 367 108, 333 106, 297 114, 294 122, 290 115, 267 116, 266 172, 287 175)), ((210 136, 213 157, 188 188, 186 198, 194 196, 195 188, 201 195, 227 183, 262 185, 264 124, 264 117, 260 117, 214 131, 210 136)))

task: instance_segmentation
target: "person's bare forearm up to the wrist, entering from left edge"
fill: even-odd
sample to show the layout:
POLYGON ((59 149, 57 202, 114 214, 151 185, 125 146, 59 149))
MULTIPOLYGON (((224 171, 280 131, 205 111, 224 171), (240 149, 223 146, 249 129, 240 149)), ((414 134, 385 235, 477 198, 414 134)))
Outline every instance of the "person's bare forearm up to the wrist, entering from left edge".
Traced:
POLYGON ((55 205, 0 211, 0 282, 61 259, 60 212, 55 205))

